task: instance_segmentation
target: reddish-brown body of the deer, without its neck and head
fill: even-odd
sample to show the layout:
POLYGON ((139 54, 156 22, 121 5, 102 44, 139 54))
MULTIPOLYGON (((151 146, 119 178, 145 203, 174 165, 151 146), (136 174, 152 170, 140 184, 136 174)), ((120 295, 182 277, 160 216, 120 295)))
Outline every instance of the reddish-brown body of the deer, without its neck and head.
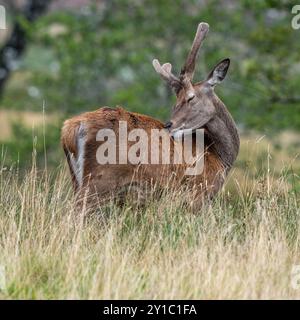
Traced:
MULTIPOLYGON (((103 107, 86 112, 65 121, 62 128, 62 146, 67 157, 74 190, 79 205, 88 207, 101 205, 115 198, 123 203, 125 198, 144 203, 147 197, 160 196, 162 190, 181 191, 193 207, 201 207, 205 199, 211 199, 224 182, 225 170, 219 157, 205 147, 204 170, 200 175, 186 176, 187 164, 173 164, 174 143, 169 137, 170 164, 99 164, 97 149, 103 143, 96 141, 101 129, 111 129, 116 136, 116 158, 119 154, 119 122, 124 121, 128 129, 143 129, 148 137, 152 129, 163 130, 164 125, 151 117, 128 112, 123 108, 103 107)), ((149 138, 150 141, 150 138, 149 138)), ((158 146, 161 154, 162 140, 158 146)), ((194 143, 194 140, 193 140, 194 143)), ((205 144, 210 143, 205 137, 205 144)), ((129 149, 134 142, 128 142, 129 149)), ((161 161, 161 158, 160 158, 161 161)))

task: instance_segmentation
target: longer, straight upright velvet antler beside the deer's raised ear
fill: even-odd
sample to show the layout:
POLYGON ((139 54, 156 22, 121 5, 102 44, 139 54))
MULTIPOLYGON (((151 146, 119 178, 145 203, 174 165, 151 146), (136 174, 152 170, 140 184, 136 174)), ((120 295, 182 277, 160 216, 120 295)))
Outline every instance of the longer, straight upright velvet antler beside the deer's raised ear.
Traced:
POLYGON ((205 23, 205 22, 199 23, 192 48, 185 61, 183 68, 181 69, 181 73, 180 73, 181 76, 185 75, 190 80, 193 80, 196 58, 197 58, 199 49, 201 47, 201 43, 206 37, 208 31, 209 31, 208 23, 205 23))

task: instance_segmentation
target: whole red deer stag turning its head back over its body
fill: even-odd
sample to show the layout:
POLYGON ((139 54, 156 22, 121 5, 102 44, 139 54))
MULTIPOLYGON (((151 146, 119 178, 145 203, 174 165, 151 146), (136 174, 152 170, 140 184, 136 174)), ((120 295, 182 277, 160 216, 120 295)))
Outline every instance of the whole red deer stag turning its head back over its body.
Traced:
MULTIPOLYGON (((165 125, 156 119, 120 107, 103 107, 65 121, 61 140, 78 199, 85 199, 88 206, 95 206, 111 196, 121 197, 122 190, 130 190, 137 196, 146 190, 145 186, 183 187, 185 191, 181 194, 187 195, 187 201, 197 210, 204 201, 211 199, 220 190, 238 155, 239 135, 234 120, 214 92, 216 84, 225 78, 230 60, 219 62, 206 80, 193 83, 196 58, 208 30, 207 23, 198 25, 192 48, 179 77, 172 73, 170 63, 160 65, 158 60, 153 60, 154 69, 174 89, 177 98, 171 119, 165 125), (127 125, 125 134, 120 133, 121 123, 127 125), (115 134, 109 143, 108 136, 106 140, 103 135, 99 137, 99 132, 103 129, 115 134), (149 148, 144 149, 148 151, 146 157, 142 157, 140 145, 139 150, 134 149, 136 156, 139 156, 138 161, 122 162, 126 157, 123 155, 121 161, 121 149, 128 150, 137 143, 135 137, 130 139, 133 129, 142 129, 148 137, 151 131, 159 130, 161 136, 156 140, 156 145, 152 144, 151 140, 149 148), (186 162, 164 163, 161 157, 156 163, 143 161, 154 149, 164 151, 162 143, 166 137, 171 158, 174 160, 174 150, 183 144, 180 137, 189 131, 195 147, 197 141, 194 133, 198 129, 204 132, 201 174, 187 176, 186 162), (127 134, 128 139, 124 137, 127 134), (115 149, 110 150, 114 148, 114 143, 115 149), (106 152, 112 151, 118 162, 99 163, 97 152, 104 144, 106 152)), ((184 148, 185 146, 182 146, 181 150, 184 148)), ((79 203, 82 203, 82 200, 79 203)))

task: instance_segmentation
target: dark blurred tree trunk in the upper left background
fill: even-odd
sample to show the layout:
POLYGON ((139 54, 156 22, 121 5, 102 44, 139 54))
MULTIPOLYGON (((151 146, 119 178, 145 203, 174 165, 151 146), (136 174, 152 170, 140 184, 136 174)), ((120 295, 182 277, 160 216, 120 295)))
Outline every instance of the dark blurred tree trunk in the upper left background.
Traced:
MULTIPOLYGON (((40 17, 50 4, 50 0, 28 0, 21 15, 29 22, 40 17)), ((0 95, 17 59, 24 52, 27 44, 26 33, 16 21, 11 36, 0 50, 0 95)))

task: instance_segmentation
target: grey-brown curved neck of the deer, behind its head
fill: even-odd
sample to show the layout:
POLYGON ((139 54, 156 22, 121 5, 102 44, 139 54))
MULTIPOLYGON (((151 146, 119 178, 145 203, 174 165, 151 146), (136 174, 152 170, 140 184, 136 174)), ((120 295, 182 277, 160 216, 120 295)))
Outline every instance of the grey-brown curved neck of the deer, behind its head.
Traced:
POLYGON ((216 116, 206 124, 207 147, 216 153, 228 171, 239 152, 240 139, 236 124, 221 100, 214 96, 216 116))

